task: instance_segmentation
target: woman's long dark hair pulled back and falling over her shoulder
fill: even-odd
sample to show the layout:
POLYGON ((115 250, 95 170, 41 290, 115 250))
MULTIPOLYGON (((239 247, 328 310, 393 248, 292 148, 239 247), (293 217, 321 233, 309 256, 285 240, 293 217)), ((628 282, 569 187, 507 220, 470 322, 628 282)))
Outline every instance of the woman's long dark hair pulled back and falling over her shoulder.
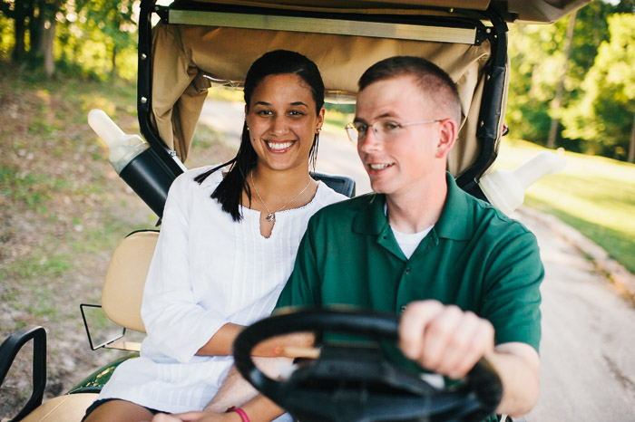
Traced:
MULTIPOLYGON (((245 77, 245 104, 247 104, 247 111, 249 112, 249 102, 254 90, 258 87, 269 75, 283 74, 283 73, 295 73, 304 82, 307 82, 308 87, 313 94, 313 100, 316 101, 316 111, 319 114, 319 110, 324 106, 324 82, 322 82, 322 75, 318 70, 316 63, 311 62, 307 57, 300 53, 289 52, 287 50, 276 50, 273 52, 263 54, 259 59, 251 64, 247 76, 245 77)), ((309 153, 309 161, 315 171, 316 156, 318 155, 318 134, 313 139, 313 145, 311 146, 309 153)), ((225 178, 220 182, 220 185, 216 187, 211 194, 212 198, 218 199, 222 205, 223 211, 230 213, 234 221, 240 221, 242 215, 240 213, 240 205, 242 201, 242 189, 247 188, 247 196, 249 197, 249 203, 251 203, 251 189, 249 183, 247 183, 247 175, 251 168, 256 166, 258 162, 258 156, 256 151, 251 146, 249 140, 249 130, 247 129, 247 122, 243 122, 242 136, 240 137, 240 147, 236 154, 236 157, 230 159, 227 163, 221 164, 215 168, 194 177, 194 181, 199 184, 203 182, 213 172, 220 168, 224 168, 231 165, 230 171, 225 178)))

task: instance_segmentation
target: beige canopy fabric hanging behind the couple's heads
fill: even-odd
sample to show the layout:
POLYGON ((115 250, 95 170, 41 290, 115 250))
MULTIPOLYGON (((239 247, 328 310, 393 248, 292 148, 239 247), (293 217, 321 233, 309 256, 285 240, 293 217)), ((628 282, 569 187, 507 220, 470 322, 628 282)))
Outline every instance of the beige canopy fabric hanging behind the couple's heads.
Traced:
MULTIPOLYGON (((370 65, 394 55, 415 55, 450 74, 461 95, 464 123, 449 159, 458 176, 477 157, 475 138, 490 44, 432 43, 185 24, 153 29, 152 112, 161 139, 185 160, 210 82, 242 82, 250 64, 276 49, 303 53, 318 64, 327 90, 357 92, 370 65)), ((502 124, 502 122, 500 122, 502 124)))

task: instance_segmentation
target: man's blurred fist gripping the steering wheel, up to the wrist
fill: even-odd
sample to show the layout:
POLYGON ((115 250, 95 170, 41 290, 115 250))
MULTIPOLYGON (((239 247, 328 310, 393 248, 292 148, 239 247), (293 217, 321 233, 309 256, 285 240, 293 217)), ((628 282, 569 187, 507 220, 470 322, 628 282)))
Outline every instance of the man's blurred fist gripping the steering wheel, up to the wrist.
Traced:
POLYGON ((454 305, 412 302, 401 317, 399 339, 407 358, 425 369, 460 379, 493 351, 493 326, 454 305))

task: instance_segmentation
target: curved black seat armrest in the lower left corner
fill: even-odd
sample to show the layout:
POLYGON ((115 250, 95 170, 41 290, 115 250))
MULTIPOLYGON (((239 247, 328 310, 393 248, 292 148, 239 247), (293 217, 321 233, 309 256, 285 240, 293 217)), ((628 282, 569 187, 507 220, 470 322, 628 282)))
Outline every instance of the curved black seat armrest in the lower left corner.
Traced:
POLYGON ((12 419, 21 420, 42 404, 46 387, 46 331, 36 325, 26 326, 15 331, 0 345, 0 385, 5 382, 15 357, 24 344, 33 340, 33 392, 24 408, 12 419))

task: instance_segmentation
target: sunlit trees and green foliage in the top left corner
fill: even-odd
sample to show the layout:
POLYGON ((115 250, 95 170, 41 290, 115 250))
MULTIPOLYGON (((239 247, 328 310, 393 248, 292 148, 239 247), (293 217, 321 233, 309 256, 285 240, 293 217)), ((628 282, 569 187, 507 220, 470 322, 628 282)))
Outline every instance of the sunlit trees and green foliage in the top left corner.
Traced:
MULTIPOLYGON (((16 13, 3 7, 0 14, 0 60, 10 57, 29 70, 42 68, 44 25, 56 21, 53 44, 57 72, 92 80, 136 78, 136 39, 139 0, 41 0, 23 2, 16 13), (24 9, 24 10, 23 10, 24 9), (24 21, 25 55, 15 52, 14 22, 24 21), (37 21, 37 22, 36 22, 37 21), (37 41, 36 41, 37 40, 37 41)), ((2 1, 0 5, 12 2, 2 1)), ((50 27, 50 25, 49 25, 50 27)), ((21 37, 21 38, 22 38, 21 37)))

